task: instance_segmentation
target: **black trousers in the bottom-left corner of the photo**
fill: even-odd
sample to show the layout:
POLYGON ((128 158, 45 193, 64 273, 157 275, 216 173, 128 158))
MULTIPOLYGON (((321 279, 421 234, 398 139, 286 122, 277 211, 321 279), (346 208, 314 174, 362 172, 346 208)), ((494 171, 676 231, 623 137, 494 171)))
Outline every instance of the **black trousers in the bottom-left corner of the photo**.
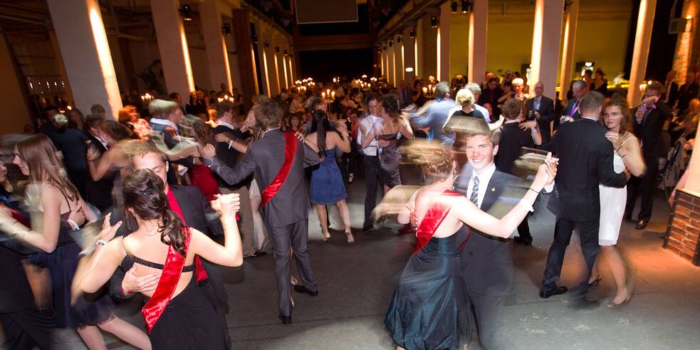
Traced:
POLYGON ((4 343, 0 344, 1 349, 24 350, 33 349, 34 346, 53 349, 51 338, 56 323, 50 309, 26 309, 0 314, 0 323, 5 336, 4 343))

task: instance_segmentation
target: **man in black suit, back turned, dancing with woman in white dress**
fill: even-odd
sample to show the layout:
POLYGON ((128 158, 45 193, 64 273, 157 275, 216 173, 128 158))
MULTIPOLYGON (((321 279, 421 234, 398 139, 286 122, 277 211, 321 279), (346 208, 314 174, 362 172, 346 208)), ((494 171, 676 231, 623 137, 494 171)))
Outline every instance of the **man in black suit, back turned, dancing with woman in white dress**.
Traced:
POLYGON ((598 250, 600 226, 600 194, 598 186, 621 188, 627 183, 629 173, 617 174, 612 167, 612 145, 605 138, 605 128, 598 124, 603 96, 589 92, 580 100, 580 120, 562 124, 553 138, 553 153, 559 158, 555 179, 560 196, 554 242, 549 249, 540 297, 563 294, 566 287, 557 286, 564 263, 564 253, 571 233, 578 228, 581 250, 587 265, 587 273, 575 293, 575 306, 586 304, 588 280, 598 250))

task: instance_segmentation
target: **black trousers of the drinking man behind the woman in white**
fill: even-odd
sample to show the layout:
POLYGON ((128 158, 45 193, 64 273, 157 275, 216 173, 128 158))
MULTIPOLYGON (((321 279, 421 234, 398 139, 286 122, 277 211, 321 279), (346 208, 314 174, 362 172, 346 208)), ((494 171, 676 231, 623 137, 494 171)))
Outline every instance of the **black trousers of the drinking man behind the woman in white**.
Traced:
POLYGON ((642 177, 632 176, 627 182, 627 206, 625 206, 625 217, 632 218, 634 204, 637 203, 639 193, 642 193, 642 206, 639 208, 638 220, 649 220, 652 218, 652 208, 654 208, 654 189, 656 189, 656 179, 659 173, 659 157, 644 157, 647 163, 647 173, 642 177))

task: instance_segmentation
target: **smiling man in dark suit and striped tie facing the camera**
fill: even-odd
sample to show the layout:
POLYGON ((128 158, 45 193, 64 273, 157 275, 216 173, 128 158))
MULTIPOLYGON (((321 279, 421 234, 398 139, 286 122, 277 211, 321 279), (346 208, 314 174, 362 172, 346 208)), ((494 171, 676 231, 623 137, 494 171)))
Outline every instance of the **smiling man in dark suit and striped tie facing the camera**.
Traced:
MULTIPOLYGON (((498 153, 501 135, 492 136, 486 122, 474 129, 465 137, 469 162, 456 179, 454 191, 470 198, 482 211, 502 218, 523 198, 529 184, 496 169, 493 157, 498 153)), ((457 279, 465 299, 469 300, 467 305, 471 303, 474 309, 479 342, 484 349, 512 349, 500 332, 503 305, 506 296, 513 294, 515 278, 511 240, 466 225, 456 235, 458 243, 464 242, 457 279)))

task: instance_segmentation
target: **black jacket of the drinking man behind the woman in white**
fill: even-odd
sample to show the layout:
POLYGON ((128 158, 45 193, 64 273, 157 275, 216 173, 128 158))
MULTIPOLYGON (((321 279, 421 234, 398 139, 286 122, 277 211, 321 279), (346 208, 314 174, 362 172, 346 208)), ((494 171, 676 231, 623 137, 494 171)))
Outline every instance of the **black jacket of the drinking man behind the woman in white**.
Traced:
POLYGON ((637 108, 632 111, 632 123, 634 125, 634 134, 642 141, 642 154, 644 161, 657 161, 656 159, 665 153, 664 140, 661 137, 661 132, 664 129, 664 123, 671 118, 671 110, 664 102, 657 102, 657 107, 649 111, 644 116, 642 122, 637 122, 637 108))

